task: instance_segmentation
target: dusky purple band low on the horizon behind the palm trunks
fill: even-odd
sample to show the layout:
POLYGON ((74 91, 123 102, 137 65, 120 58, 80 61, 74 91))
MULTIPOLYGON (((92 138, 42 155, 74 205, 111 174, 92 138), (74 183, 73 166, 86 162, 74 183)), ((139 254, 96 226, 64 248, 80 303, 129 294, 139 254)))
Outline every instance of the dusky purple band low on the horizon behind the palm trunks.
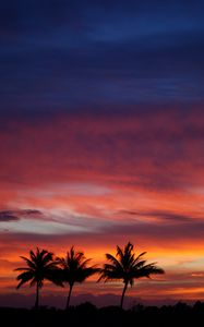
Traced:
MULTIPOLYGON (((64 292, 47 293, 43 292, 40 296, 39 306, 40 307, 56 307, 64 310, 64 303, 67 299, 67 293, 64 292)), ((116 293, 105 293, 105 294, 93 294, 93 293, 79 293, 72 295, 71 306, 77 306, 84 303, 92 303, 96 307, 105 306, 118 306, 120 303, 120 294, 116 293)), ((16 307, 16 308, 33 308, 34 307, 35 293, 12 293, 12 294, 0 294, 0 307, 16 307)), ((192 300, 192 299, 142 299, 134 295, 127 294, 124 300, 124 310, 132 308, 136 305, 144 306, 157 306, 161 307, 164 305, 173 306, 178 303, 185 303, 193 306, 196 302, 204 303, 203 300, 192 300)))

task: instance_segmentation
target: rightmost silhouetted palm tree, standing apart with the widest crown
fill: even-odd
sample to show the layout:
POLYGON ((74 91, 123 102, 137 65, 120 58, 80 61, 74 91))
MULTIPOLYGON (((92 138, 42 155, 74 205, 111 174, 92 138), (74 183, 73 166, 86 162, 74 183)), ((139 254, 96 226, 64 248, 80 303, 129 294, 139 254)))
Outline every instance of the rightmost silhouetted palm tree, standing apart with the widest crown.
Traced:
POLYGON ((135 256, 133 252, 133 244, 130 242, 121 249, 117 245, 116 257, 109 253, 106 254, 106 258, 109 263, 105 264, 100 269, 100 277, 98 281, 104 280, 122 280, 124 283, 122 296, 120 301, 120 307, 123 306, 124 294, 128 286, 131 287, 134 283, 134 279, 141 277, 149 278, 151 275, 155 274, 165 274, 165 271, 156 266, 156 263, 146 264, 146 261, 143 259, 143 256, 146 252, 141 253, 139 256, 135 256), (118 258, 117 258, 118 257, 118 258))

